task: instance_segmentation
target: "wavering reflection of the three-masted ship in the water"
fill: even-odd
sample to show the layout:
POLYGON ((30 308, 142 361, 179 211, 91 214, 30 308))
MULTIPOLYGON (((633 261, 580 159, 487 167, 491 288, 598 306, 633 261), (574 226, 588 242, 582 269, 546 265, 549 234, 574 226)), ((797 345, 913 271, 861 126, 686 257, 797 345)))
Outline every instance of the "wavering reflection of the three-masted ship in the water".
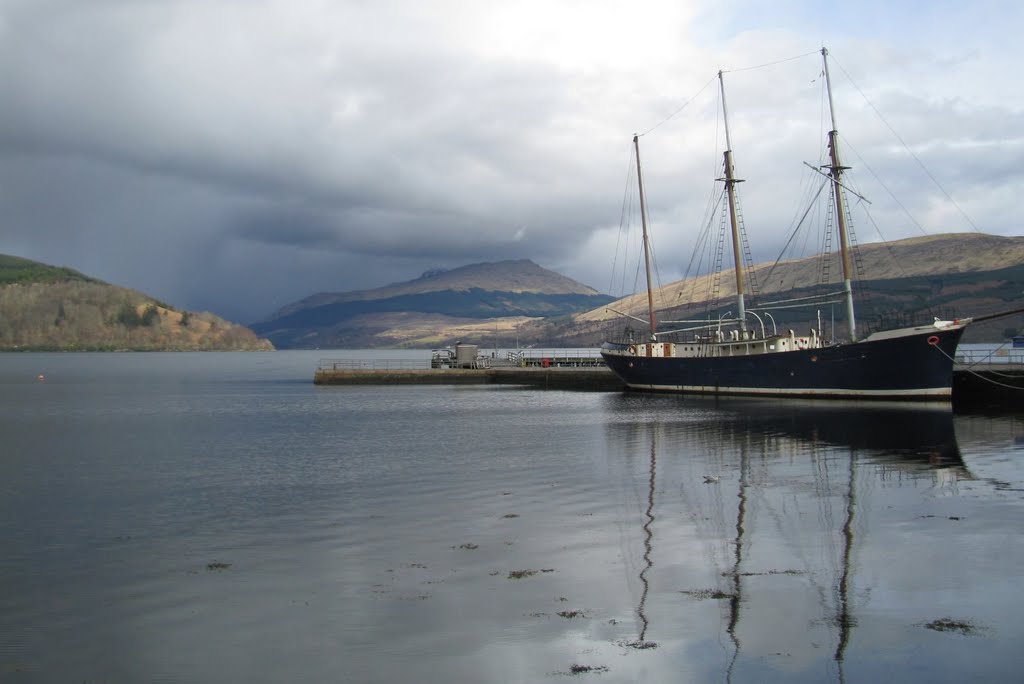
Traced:
MULTIPOLYGON (((970 477, 948 404, 650 395, 609 402, 617 415, 633 418, 607 425, 609 452, 631 463, 636 478, 646 479, 646 486, 638 481, 635 489, 646 501, 638 521, 638 639, 630 645, 647 648, 674 638, 648 614, 650 597, 660 601, 668 600, 667 592, 680 593, 678 587, 656 586, 665 574, 652 573, 659 557, 655 541, 671 546, 692 537, 700 552, 690 550, 685 563, 674 564, 702 560, 702 567, 680 579, 692 586, 681 593, 691 607, 718 601, 722 639, 731 649, 723 662, 727 681, 740 667, 748 639, 769 654, 803 648, 807 657, 820 657, 821 637, 830 640, 836 678, 845 681, 858 601, 869 596, 869 588, 855 587, 854 575, 858 546, 870 532, 862 511, 870 509, 872 491, 880 483, 955 486, 970 477), (656 516, 656 509, 666 510, 656 516), (778 611, 779 596, 815 603, 816 617, 785 628, 785 614, 769 612, 778 611)), ((801 605, 792 612, 808 610, 801 605)), ((764 653, 751 653, 749 661, 759 657, 764 653)))

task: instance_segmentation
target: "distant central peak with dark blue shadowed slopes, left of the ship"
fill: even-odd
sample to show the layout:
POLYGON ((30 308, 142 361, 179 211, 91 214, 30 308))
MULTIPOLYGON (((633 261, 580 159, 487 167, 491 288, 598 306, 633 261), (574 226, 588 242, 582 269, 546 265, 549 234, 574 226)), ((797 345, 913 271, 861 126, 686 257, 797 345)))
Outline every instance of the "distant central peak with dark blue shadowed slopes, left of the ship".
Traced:
POLYGON ((279 348, 431 347, 496 331, 511 335, 528 322, 611 299, 520 259, 428 271, 374 290, 312 295, 251 328, 279 348))

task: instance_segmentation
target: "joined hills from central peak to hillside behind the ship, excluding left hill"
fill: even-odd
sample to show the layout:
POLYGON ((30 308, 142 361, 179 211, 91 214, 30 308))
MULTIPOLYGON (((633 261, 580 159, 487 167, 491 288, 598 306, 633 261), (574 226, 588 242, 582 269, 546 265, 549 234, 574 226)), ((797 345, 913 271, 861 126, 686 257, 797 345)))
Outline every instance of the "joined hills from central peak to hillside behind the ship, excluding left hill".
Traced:
MULTIPOLYGON (((864 245, 858 252, 857 310, 864 331, 934 316, 981 315, 1024 301, 1024 238, 940 234, 864 245)), ((759 264, 754 276, 761 292, 749 297, 768 301, 810 294, 822 271, 839 272, 836 261, 833 256, 759 264)), ((702 275, 659 288, 658 317, 692 317, 708 307, 711 292, 728 307, 733 283, 725 271, 717 286, 713 276, 702 275)), ((643 329, 646 293, 611 299, 531 261, 502 261, 428 272, 377 290, 313 295, 252 328, 279 348, 430 348, 459 340, 496 347, 589 347, 627 325, 643 329)), ((822 312, 829 326, 834 313, 822 312)), ((814 323, 806 317, 783 311, 775 323, 802 329, 814 323)), ((971 327, 965 340, 999 340, 1013 328, 1024 329, 1024 316, 971 327)))

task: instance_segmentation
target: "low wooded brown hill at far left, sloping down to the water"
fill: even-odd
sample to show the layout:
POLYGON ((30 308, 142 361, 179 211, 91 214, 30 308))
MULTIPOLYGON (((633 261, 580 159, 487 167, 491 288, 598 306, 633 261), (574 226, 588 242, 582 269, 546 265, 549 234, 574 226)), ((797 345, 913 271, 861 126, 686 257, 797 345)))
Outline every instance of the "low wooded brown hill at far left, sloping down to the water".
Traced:
POLYGON ((71 268, 0 254, 0 350, 270 350, 212 313, 178 311, 71 268))

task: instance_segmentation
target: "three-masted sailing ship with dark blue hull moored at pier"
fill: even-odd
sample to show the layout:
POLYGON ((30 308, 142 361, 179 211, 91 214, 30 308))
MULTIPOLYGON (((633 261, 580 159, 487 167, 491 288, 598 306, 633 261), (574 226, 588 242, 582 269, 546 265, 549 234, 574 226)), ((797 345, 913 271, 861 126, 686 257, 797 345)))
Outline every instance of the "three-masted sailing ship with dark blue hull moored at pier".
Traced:
MULTIPOLYGON (((644 265, 647 276, 649 329, 646 335, 630 331, 624 339, 605 342, 601 354, 632 389, 705 394, 756 394, 822 398, 947 399, 951 395, 956 346, 971 318, 940 320, 858 336, 853 299, 852 250, 844 194, 839 133, 828 74, 828 51, 821 49, 831 129, 827 134, 828 161, 817 173, 830 191, 835 216, 841 289, 812 297, 799 297, 750 306, 741 267, 743 244, 736 200, 736 184, 725 84, 719 72, 726 151, 723 155, 723 199, 731 232, 735 273, 736 315, 731 312, 702 319, 666 322, 681 325, 659 332, 655 319, 650 275, 650 249, 646 203, 640 166, 639 137, 634 136, 636 172, 640 190, 644 265), (820 309, 816 325, 806 333, 778 330, 771 311, 841 304, 845 336, 823 334, 820 309), (774 307, 774 308, 773 308, 774 307), (767 323, 766 323, 767 320, 767 323), (752 323, 754 322, 754 323, 752 323), (645 338, 645 339, 644 339, 645 338)), ((850 190, 852 191, 852 190, 850 190)), ((858 196, 859 197, 859 196, 858 196)), ((630 316, 634 317, 634 316, 630 316)), ((639 319, 638 319, 639 320, 639 319)), ((835 331, 835 327, 834 327, 835 331)))

